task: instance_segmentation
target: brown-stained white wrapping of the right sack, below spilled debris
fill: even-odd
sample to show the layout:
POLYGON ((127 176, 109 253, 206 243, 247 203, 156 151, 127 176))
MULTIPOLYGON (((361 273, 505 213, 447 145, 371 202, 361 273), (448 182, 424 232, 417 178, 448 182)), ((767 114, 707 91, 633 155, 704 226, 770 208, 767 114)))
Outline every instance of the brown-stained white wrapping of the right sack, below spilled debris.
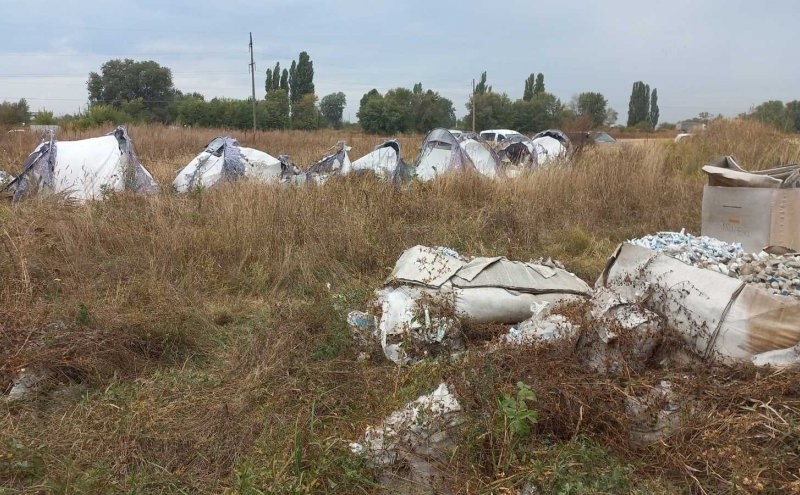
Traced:
POLYGON ((800 341, 800 302, 621 244, 597 282, 661 315, 701 357, 750 360, 800 341))

